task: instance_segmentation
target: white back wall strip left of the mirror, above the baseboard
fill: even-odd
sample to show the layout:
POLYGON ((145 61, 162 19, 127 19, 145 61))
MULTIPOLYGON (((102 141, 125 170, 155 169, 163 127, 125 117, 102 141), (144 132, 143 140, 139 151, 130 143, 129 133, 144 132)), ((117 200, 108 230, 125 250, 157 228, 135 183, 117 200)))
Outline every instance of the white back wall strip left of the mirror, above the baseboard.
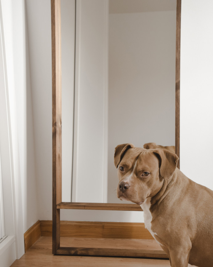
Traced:
MULTIPOLYGON (((38 219, 51 219, 52 65, 50 1, 26 0, 26 19, 29 44, 28 77, 30 77, 32 90, 34 156, 38 186, 38 219)), ((30 105, 30 102, 28 104, 30 105)))

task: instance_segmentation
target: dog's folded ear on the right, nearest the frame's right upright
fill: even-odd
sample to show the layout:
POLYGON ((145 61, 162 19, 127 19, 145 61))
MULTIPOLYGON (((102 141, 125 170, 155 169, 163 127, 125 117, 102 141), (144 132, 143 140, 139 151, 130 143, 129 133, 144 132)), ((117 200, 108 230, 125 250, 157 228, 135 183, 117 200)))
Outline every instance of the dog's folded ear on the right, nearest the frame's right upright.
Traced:
POLYGON ((153 150, 159 159, 160 175, 164 180, 168 180, 175 172, 179 157, 169 150, 158 148, 153 150))

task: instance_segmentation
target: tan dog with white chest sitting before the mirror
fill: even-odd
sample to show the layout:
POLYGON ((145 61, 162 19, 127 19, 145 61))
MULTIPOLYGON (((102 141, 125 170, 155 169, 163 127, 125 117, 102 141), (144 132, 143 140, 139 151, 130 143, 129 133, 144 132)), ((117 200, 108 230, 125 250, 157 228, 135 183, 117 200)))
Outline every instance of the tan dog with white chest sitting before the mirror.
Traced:
POLYGON ((162 148, 118 145, 117 196, 141 205, 145 226, 172 267, 212 267, 213 191, 188 179, 176 168, 178 159, 162 148))

